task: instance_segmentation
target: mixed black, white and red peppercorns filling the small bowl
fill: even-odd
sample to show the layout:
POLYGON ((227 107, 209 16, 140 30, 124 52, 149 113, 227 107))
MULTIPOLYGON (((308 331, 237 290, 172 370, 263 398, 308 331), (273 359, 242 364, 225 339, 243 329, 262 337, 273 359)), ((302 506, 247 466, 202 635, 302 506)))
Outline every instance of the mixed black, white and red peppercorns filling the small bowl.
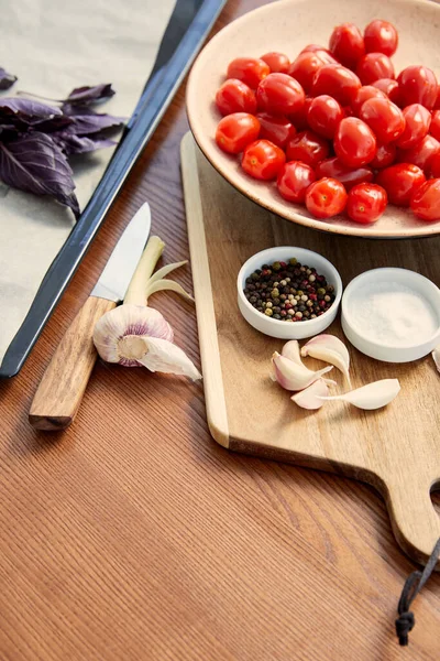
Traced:
POLYGON ((243 292, 258 312, 280 322, 315 319, 334 302, 334 286, 295 257, 256 269, 243 292))

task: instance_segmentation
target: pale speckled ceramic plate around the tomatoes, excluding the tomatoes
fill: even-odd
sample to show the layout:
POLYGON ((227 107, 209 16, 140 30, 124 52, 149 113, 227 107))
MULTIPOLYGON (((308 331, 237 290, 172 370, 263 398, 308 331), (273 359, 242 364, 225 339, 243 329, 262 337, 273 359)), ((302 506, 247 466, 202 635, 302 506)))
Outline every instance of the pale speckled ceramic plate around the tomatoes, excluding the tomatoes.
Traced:
POLYGON ((440 79, 440 4, 429 0, 279 0, 252 11, 219 32, 193 66, 187 88, 187 111, 197 143, 212 165, 241 193, 294 223, 336 234, 371 238, 410 238, 440 234, 440 221, 418 221, 407 209, 389 206, 373 226, 355 225, 342 216, 312 218, 307 209, 284 201, 274 184, 249 177, 238 158, 221 152, 216 142, 220 120, 213 98, 234 57, 258 57, 280 51, 290 58, 309 43, 327 46, 334 25, 353 22, 361 30, 373 19, 394 23, 399 47, 393 62, 396 72, 410 64, 431 67, 440 79))

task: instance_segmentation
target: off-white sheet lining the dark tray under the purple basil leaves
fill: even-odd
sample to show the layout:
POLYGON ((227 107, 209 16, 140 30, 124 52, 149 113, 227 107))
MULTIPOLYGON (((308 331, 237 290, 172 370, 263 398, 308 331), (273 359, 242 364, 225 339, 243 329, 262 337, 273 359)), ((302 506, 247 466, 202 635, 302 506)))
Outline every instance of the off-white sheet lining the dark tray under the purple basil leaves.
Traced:
MULTIPOLYGON (((25 90, 65 98, 111 83, 99 112, 130 117, 153 67, 175 0, 0 0, 0 66, 25 90)), ((113 149, 70 161, 84 209, 113 149)), ((48 197, 0 186, 0 364, 75 221, 48 197)))

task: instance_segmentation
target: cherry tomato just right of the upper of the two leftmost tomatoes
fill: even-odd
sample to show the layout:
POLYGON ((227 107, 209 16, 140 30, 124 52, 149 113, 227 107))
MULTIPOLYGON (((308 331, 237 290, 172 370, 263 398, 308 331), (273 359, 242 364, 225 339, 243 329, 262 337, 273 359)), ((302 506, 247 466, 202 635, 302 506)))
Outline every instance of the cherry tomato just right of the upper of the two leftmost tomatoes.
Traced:
POLYGON ((287 74, 270 74, 260 83, 256 90, 260 110, 273 115, 298 112, 302 108, 305 99, 302 87, 287 74))

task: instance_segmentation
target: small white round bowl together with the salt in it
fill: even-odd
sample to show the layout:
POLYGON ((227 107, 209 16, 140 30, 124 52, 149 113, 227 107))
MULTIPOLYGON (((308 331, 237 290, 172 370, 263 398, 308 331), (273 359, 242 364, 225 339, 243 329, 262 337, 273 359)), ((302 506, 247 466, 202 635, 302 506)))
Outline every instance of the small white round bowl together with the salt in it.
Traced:
POLYGON ((410 362, 440 344, 440 290, 407 269, 373 269, 342 296, 342 329, 371 358, 410 362))

